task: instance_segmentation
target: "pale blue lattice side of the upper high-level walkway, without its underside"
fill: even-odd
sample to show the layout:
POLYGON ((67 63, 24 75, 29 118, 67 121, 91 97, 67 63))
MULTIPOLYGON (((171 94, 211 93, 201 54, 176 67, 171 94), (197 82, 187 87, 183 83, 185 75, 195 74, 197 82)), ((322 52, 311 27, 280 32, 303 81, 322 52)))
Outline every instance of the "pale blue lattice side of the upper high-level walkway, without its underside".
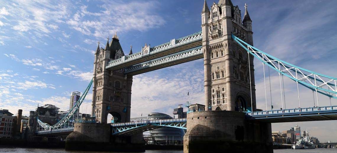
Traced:
POLYGON ((134 54, 131 54, 131 55, 125 55, 125 56, 122 56, 119 59, 110 61, 110 62, 108 62, 108 65, 105 67, 105 69, 120 65, 120 64, 125 63, 125 62, 140 59, 140 58, 143 58, 145 56, 149 56, 149 55, 154 54, 154 53, 162 52, 162 51, 172 49, 172 48, 175 48, 175 47, 178 47, 178 46, 186 45, 186 44, 189 44, 189 43, 192 43, 192 42, 200 41, 202 39, 203 39, 202 31, 199 31, 197 33, 185 36, 183 38, 173 39, 170 42, 166 42, 166 43, 151 47, 149 54, 142 54, 142 52, 137 52, 137 53, 134 53, 134 54))

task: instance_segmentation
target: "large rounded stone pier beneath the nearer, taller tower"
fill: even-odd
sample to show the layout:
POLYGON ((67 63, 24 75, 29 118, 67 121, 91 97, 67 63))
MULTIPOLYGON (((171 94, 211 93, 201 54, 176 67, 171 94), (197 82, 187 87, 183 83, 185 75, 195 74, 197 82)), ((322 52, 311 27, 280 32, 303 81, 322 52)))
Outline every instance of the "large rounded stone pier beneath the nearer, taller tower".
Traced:
POLYGON ((238 111, 187 114, 184 153, 273 153, 271 124, 245 119, 238 111))

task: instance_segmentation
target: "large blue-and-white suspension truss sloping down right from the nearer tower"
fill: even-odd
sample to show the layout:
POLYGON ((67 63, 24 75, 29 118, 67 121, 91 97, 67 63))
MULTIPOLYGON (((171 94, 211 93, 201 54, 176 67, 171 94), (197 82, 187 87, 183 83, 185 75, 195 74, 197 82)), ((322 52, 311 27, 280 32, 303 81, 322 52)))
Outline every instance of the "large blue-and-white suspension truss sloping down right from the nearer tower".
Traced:
POLYGON ((265 63, 278 73, 296 81, 297 83, 330 98, 337 99, 337 78, 313 72, 275 58, 239 39, 232 34, 232 38, 259 61, 265 63))

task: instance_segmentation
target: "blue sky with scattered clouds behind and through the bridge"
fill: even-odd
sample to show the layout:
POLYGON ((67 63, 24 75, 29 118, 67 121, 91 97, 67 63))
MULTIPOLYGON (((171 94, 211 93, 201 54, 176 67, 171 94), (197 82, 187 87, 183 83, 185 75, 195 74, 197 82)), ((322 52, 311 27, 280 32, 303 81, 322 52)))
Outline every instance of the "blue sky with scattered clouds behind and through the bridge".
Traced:
MULTIPOLYGON (((217 2, 217 0, 216 0, 217 2)), ((337 13, 334 0, 232 0, 252 19, 254 46, 283 61, 337 77, 337 13)), ((97 42, 117 32, 124 53, 201 29, 204 0, 13 0, 0 3, 0 108, 29 115, 37 105, 68 110, 70 93, 83 92, 92 78, 97 42)), ((213 1, 207 1, 211 6, 213 1)), ((242 17, 243 18, 243 17, 242 17)), ((101 44, 101 46, 103 46, 101 44)), ((254 60, 257 108, 265 109, 262 64, 254 60)), ((278 74, 271 71, 274 108, 281 108, 278 74)), ((298 107, 296 83, 284 78, 286 108, 298 107)), ((269 84, 267 83, 267 88, 269 84)), ((133 76, 131 117, 150 112, 173 116, 178 104, 204 103, 203 59, 133 76)), ((300 87, 301 107, 312 92, 300 87)), ((330 106, 319 95, 320 106, 330 106)), ((92 92, 80 108, 91 112, 92 92)), ((270 99, 270 94, 267 94, 270 99)), ((331 100, 337 105, 337 100, 331 100)), ((270 109, 270 100, 268 100, 270 109)), ((317 102, 316 102, 317 103, 317 102)), ((273 131, 295 125, 321 142, 337 142, 337 121, 273 123, 273 131)))

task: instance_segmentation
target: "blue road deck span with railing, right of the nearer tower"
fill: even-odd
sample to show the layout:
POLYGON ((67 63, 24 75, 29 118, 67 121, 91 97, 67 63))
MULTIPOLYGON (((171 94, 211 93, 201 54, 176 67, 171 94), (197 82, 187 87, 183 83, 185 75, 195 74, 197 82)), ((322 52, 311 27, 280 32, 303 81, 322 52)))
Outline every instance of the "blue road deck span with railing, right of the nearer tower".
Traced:
POLYGON ((337 120, 337 106, 250 112, 246 119, 269 123, 337 120))

